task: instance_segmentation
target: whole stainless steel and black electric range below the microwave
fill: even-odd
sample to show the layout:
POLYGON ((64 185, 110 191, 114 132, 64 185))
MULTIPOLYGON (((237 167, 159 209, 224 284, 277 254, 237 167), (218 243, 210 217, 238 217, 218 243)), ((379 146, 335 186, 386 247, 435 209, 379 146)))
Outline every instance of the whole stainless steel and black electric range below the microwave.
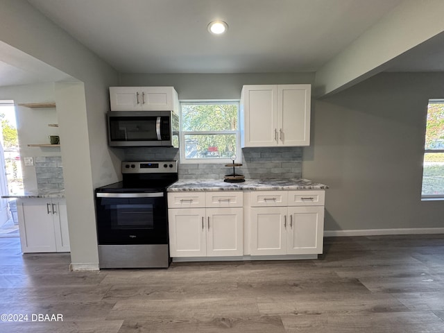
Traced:
POLYGON ((177 161, 122 162, 121 182, 96 189, 100 268, 168 267, 167 187, 177 161))

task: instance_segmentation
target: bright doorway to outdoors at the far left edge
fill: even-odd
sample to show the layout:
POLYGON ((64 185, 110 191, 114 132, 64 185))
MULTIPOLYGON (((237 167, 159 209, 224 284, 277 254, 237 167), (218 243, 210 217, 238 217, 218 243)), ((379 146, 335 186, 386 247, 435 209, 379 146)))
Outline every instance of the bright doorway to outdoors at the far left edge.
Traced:
MULTIPOLYGON (((14 101, 0 101, 0 196, 23 191, 14 101)), ((0 237, 19 237, 17 200, 0 198, 0 237)))

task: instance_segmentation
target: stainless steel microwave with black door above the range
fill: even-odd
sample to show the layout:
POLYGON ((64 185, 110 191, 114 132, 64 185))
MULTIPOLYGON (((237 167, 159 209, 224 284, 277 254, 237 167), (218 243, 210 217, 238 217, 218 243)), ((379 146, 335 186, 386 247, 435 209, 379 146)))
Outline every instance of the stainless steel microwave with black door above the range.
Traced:
POLYGON ((110 111, 108 144, 178 148, 179 117, 173 111, 110 111))

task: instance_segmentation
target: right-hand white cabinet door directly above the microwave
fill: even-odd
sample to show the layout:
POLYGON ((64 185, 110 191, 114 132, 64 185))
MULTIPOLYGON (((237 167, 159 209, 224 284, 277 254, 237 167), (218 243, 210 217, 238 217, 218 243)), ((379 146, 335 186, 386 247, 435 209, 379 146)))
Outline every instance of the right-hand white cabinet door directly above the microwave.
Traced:
POLYGON ((142 110, 175 111, 175 93, 173 87, 142 87, 142 110))

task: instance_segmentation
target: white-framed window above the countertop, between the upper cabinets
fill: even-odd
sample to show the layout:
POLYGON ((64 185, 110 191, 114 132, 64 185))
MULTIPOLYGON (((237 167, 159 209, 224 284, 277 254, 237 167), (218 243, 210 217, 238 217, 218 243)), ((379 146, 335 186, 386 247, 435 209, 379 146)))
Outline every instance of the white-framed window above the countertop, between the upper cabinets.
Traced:
POLYGON ((241 161, 239 101, 180 102, 182 163, 241 161))

